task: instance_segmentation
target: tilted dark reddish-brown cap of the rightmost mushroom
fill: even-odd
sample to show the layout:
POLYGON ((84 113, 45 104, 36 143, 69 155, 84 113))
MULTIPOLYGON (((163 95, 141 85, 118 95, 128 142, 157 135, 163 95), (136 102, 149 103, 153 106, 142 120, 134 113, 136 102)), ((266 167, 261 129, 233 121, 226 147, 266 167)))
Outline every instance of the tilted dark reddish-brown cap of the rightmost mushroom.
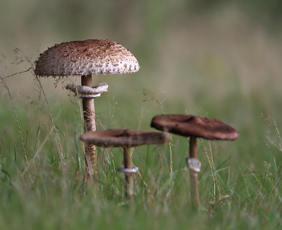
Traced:
POLYGON ((236 129, 219 120, 193 115, 157 115, 151 127, 180 136, 202 137, 208 140, 235 140, 239 133, 236 129))

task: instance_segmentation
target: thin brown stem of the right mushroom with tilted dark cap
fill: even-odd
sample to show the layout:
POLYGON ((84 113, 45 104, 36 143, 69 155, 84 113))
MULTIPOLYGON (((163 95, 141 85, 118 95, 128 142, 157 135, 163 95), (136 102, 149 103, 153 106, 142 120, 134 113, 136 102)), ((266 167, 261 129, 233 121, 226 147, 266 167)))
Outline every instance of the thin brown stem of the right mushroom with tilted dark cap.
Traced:
MULTIPOLYGON (((190 136, 190 144, 189 144, 189 158, 193 158, 197 160, 197 137, 190 136)), ((190 172, 190 186, 191 186, 191 200, 192 200, 192 207, 200 210, 200 198, 199 198, 199 191, 198 191, 198 178, 197 178, 197 171, 189 167, 190 172)))

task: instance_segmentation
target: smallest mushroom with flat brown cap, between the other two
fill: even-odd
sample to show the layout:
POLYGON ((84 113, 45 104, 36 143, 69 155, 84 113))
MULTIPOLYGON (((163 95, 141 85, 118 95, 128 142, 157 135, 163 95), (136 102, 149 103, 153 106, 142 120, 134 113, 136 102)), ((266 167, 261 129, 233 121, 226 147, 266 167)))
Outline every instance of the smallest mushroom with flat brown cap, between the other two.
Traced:
POLYGON ((118 171, 125 173, 125 195, 133 199, 133 174, 138 171, 138 168, 133 167, 130 148, 145 144, 168 143, 170 138, 161 132, 135 129, 107 129, 86 132, 80 136, 80 140, 96 146, 123 148, 124 167, 119 167, 118 171))

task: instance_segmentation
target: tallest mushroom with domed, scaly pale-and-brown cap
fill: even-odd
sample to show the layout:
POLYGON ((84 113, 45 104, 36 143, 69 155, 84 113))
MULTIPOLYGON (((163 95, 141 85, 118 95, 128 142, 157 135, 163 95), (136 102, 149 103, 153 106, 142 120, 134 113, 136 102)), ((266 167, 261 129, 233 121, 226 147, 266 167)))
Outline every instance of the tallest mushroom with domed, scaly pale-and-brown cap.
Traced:
MULTIPOLYGON (((140 68, 128 49, 114 41, 97 39, 55 44, 40 53, 35 63, 35 75, 39 77, 81 76, 82 86, 68 84, 66 89, 82 98, 85 132, 96 130, 94 98, 108 88, 106 83, 92 87, 92 75, 137 72, 140 68)), ((95 146, 85 146, 85 177, 92 176, 95 158, 95 146)))

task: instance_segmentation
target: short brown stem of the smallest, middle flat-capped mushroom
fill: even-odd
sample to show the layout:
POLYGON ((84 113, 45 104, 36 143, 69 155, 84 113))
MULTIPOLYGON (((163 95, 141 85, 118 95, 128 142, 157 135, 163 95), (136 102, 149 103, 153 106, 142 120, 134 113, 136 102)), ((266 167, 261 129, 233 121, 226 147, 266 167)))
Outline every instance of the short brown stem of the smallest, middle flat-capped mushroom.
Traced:
MULTIPOLYGON (((130 148, 128 146, 123 147, 124 167, 125 169, 132 169, 133 162, 130 157, 130 148)), ((125 196, 133 199, 133 173, 125 173, 125 196)))

